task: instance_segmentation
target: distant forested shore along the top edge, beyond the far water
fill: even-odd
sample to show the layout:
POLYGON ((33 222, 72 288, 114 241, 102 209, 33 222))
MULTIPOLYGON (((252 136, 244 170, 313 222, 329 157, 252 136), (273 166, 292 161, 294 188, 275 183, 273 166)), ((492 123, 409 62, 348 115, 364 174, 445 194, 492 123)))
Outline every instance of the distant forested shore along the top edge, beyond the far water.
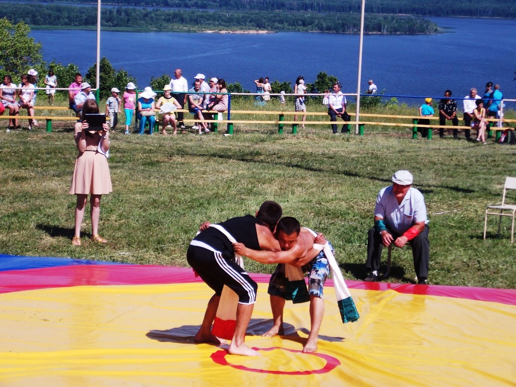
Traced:
MULTIPOLYGON (((47 0, 49 3, 57 0, 47 0)), ((96 0, 72 0, 95 3, 96 0)), ((360 0, 112 0, 110 4, 261 11, 360 12, 360 0)), ((516 18, 514 0, 367 0, 367 13, 442 17, 516 18)))

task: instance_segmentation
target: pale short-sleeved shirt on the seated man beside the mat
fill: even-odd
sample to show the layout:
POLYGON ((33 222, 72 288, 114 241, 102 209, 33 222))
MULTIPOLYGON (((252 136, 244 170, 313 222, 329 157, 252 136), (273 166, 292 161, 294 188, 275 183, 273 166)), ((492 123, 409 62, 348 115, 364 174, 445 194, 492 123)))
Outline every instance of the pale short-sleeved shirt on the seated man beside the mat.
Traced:
POLYGON ((414 223, 428 223, 423 194, 413 187, 410 187, 400 204, 392 186, 381 189, 376 198, 375 216, 383 218, 386 227, 398 234, 403 234, 414 223))

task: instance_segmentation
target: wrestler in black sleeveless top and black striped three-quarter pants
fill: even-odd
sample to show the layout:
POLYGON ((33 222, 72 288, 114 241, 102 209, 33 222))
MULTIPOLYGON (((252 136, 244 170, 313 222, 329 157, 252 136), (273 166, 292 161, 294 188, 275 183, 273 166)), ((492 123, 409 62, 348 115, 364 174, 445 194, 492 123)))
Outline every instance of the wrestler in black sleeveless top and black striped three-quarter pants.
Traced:
POLYGON ((260 356, 244 343, 258 285, 236 262, 232 242, 243 243, 255 250, 280 251, 272 230, 281 214, 282 209, 278 203, 266 201, 256 212, 256 217, 246 215, 219 224, 201 224, 201 232, 190 242, 186 258, 188 264, 215 294, 208 302, 201 328, 195 336, 197 342, 220 344, 211 329, 222 288, 226 285, 238 295, 236 329, 228 352, 242 356, 260 356))

